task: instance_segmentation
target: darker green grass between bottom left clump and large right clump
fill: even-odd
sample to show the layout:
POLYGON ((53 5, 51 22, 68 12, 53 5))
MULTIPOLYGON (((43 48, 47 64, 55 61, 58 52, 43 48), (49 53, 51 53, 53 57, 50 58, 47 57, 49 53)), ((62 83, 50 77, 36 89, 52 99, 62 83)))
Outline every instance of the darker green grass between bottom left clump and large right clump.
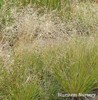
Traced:
POLYGON ((18 51, 17 54, 19 53, 18 58, 20 59, 18 62, 28 69, 30 77, 34 75, 38 80, 43 90, 42 97, 44 100, 57 100, 57 93, 61 87, 47 66, 45 54, 41 51, 34 51, 23 49, 22 52, 25 52, 23 54, 18 51))

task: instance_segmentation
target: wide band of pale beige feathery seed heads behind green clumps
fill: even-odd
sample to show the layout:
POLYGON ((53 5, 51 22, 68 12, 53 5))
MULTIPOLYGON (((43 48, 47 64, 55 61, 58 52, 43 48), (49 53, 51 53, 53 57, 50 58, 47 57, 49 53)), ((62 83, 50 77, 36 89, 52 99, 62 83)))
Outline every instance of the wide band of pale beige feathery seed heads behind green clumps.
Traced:
POLYGON ((59 35, 66 37, 66 34, 95 35, 98 32, 98 6, 95 3, 72 3, 70 11, 66 10, 65 6, 60 11, 49 12, 36 6, 28 5, 24 8, 10 6, 9 3, 0 9, 2 34, 9 32, 15 35, 13 37, 18 34, 19 38, 23 36, 27 41, 33 41, 36 37, 55 38, 59 35))

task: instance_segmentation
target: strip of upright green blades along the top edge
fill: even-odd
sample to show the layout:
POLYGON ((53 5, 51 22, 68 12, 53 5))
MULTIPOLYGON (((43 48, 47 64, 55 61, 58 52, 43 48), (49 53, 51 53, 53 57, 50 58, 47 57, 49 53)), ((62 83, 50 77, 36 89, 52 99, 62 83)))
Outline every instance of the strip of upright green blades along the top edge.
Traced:
MULTIPOLYGON (((2 6, 4 3, 6 3, 7 1, 4 0, 0 0, 0 5, 2 6)), ((13 4, 19 4, 19 5, 33 5, 36 4, 38 6, 44 6, 47 8, 61 8, 62 4, 66 4, 67 2, 69 3, 69 0, 16 0, 16 1, 12 1, 9 0, 9 2, 12 2, 13 4)))

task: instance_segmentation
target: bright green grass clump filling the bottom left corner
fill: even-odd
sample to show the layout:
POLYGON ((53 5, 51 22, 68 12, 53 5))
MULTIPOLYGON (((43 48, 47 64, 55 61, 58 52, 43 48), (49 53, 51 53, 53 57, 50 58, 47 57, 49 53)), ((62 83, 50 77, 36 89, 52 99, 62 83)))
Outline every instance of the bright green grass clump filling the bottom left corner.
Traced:
POLYGON ((24 62, 21 62, 23 59, 14 58, 15 64, 0 66, 0 98, 2 100, 43 100, 44 93, 39 79, 34 73, 31 74, 28 65, 24 66, 24 62))

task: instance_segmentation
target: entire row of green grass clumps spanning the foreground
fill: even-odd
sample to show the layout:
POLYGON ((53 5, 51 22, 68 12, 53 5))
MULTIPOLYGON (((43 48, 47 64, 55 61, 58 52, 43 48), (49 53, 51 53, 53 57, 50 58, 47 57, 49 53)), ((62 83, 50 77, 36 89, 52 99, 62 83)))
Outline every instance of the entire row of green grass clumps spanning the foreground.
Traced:
MULTIPOLYGON (((91 93, 98 88, 98 40, 75 36, 64 45, 38 52, 21 48, 14 64, 1 64, 4 100, 51 100, 57 93, 91 93)), ((2 61, 1 61, 2 62, 2 61)))

